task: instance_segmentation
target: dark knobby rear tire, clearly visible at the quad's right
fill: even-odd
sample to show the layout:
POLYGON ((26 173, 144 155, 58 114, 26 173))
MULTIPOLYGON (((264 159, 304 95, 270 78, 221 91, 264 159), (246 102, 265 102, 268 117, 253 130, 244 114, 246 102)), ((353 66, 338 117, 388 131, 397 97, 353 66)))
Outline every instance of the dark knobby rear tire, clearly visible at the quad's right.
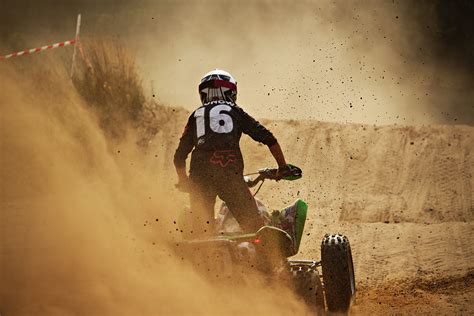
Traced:
POLYGON ((355 278, 351 246, 346 236, 324 236, 321 264, 328 310, 348 312, 355 296, 355 278))

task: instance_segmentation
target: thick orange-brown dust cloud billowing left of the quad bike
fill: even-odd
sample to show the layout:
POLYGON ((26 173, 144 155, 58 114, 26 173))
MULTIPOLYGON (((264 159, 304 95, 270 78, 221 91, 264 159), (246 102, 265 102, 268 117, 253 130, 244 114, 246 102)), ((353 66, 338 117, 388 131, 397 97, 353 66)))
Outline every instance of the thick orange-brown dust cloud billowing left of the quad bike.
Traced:
POLYGON ((63 68, 2 65, 0 80, 2 315, 304 311, 258 280, 209 284, 174 256, 170 171, 109 142, 63 68))

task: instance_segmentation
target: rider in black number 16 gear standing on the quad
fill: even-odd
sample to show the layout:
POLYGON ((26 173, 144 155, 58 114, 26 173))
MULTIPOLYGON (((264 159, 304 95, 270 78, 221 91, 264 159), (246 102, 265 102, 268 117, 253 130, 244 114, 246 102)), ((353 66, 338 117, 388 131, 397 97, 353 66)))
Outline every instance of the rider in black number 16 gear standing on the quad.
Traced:
POLYGON ((273 134, 237 106, 237 82, 228 72, 216 69, 204 75, 199 95, 202 106, 189 117, 174 155, 177 187, 190 193, 192 229, 198 235, 212 233, 219 196, 241 228, 255 232, 263 220, 243 178, 240 137, 245 133, 267 145, 281 176, 289 172, 283 152, 273 134), (191 150, 188 178, 186 158, 191 150))

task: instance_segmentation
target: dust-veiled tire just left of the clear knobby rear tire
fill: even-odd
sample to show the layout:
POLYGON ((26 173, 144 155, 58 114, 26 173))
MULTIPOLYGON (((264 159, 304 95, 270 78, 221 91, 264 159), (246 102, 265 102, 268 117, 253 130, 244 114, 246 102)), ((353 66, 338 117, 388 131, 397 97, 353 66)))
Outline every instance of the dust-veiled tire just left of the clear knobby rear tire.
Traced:
POLYGON ((308 266, 295 266, 291 272, 296 293, 315 315, 323 315, 324 292, 318 270, 308 266))

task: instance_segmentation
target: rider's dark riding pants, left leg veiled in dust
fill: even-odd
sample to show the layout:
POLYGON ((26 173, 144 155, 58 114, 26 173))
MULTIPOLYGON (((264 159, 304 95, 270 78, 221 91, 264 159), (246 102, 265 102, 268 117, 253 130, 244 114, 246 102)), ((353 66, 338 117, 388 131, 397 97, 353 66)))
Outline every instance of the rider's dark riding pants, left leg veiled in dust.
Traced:
POLYGON ((244 232, 256 232, 263 225, 257 204, 241 172, 214 169, 191 173, 191 226, 195 236, 214 233, 214 205, 219 196, 229 207, 244 232))

